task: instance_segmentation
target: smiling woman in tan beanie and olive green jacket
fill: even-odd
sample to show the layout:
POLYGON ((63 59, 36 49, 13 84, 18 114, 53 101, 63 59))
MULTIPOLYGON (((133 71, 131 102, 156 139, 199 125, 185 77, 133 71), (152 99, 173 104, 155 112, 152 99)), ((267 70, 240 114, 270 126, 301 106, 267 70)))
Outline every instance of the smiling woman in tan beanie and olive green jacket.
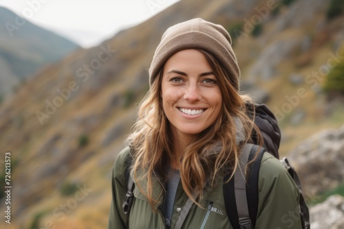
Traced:
MULTIPOLYGON (((224 206, 224 175, 233 176, 241 147, 257 131, 246 115, 250 99, 239 95, 239 75, 221 25, 193 19, 166 30, 129 147, 116 158, 108 228, 233 228, 224 206), (128 158, 135 189, 126 215, 128 158)), ((288 219, 301 228, 298 196, 280 162, 264 154, 255 228, 291 228, 288 219)))

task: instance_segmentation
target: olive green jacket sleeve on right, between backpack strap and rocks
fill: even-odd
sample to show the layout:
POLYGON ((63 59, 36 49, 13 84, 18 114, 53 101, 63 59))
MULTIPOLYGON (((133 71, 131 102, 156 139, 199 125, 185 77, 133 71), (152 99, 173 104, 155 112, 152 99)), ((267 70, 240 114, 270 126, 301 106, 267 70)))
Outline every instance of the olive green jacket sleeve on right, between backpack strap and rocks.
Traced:
POLYGON ((264 154, 259 170, 256 229, 302 229, 299 189, 277 158, 264 154))

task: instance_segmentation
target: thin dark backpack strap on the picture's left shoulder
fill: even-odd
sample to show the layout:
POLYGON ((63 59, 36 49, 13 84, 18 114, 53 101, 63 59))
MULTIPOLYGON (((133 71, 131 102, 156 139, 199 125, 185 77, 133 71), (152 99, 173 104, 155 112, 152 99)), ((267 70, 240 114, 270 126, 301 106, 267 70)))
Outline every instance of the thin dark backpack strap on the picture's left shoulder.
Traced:
POLYGON ((125 180, 127 180, 127 193, 125 194, 125 200, 123 200, 122 208, 125 214, 129 214, 131 205, 133 204, 133 189, 135 184, 130 176, 131 167, 131 155, 129 154, 127 160, 125 161, 125 180))

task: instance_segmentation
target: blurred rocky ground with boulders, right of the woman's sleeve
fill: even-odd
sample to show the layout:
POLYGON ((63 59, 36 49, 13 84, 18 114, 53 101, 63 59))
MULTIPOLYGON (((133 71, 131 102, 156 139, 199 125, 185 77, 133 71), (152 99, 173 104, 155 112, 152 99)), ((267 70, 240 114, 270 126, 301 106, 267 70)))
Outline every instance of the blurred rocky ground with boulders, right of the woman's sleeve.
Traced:
POLYGON ((311 228, 344 228, 344 125, 310 136, 288 158, 308 198, 311 228))

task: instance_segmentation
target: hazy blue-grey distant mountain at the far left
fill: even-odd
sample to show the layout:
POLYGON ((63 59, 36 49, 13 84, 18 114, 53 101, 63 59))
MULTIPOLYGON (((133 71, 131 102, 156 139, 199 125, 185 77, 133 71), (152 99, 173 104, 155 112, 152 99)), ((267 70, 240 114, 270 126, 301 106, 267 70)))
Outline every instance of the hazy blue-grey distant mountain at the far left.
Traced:
POLYGON ((0 7, 0 95, 10 95, 45 64, 78 48, 76 43, 0 7))

